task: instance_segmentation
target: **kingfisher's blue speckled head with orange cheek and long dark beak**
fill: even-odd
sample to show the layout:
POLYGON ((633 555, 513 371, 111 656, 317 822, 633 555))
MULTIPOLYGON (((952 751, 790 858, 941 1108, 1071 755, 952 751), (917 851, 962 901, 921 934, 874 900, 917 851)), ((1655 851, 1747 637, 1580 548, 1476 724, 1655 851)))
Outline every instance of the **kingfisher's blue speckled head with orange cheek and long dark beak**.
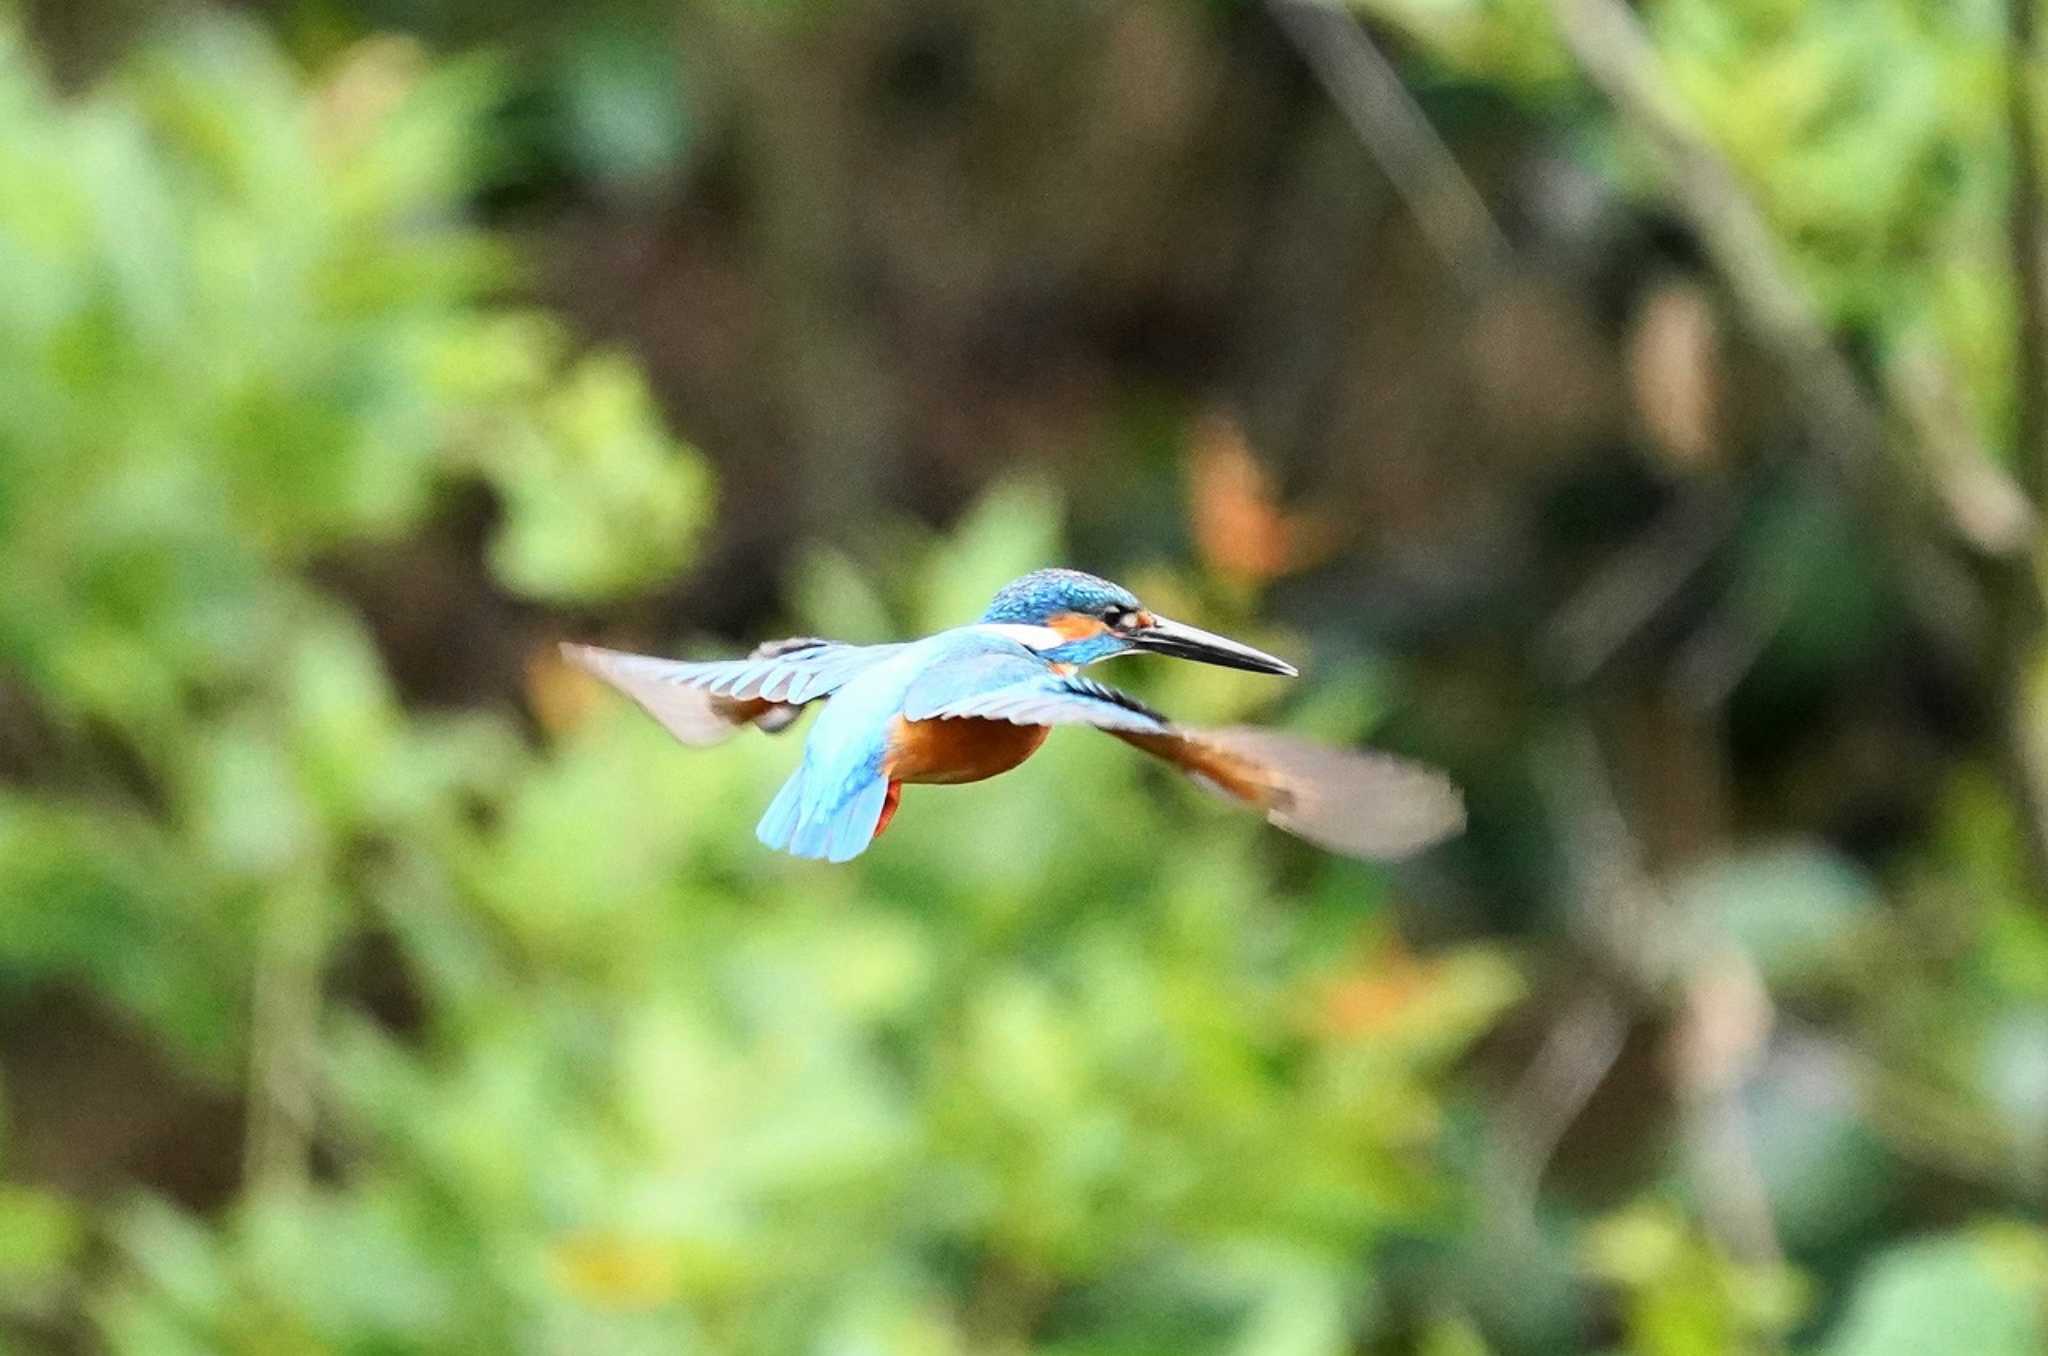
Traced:
POLYGON ((1012 580, 995 594, 981 621, 1004 627, 1055 664, 1094 664, 1145 649, 1253 674, 1294 676, 1294 666, 1286 660, 1159 617, 1128 588, 1079 569, 1034 569, 1012 580))

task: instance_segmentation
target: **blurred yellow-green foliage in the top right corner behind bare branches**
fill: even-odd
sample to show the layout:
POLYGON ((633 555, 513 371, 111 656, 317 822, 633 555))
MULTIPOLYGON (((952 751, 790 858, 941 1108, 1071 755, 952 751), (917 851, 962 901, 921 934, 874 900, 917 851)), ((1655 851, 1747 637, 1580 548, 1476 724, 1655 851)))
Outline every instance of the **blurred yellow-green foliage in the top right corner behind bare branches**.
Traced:
MULTIPOLYGON (((1360 0, 1456 78, 1556 123, 1647 201, 1667 172, 1628 119, 1589 117, 1546 0, 1360 0)), ((1724 154, 1827 322, 1882 363, 1933 363, 2005 444, 2003 18, 1995 4, 1657 0, 1653 86, 1724 154)))

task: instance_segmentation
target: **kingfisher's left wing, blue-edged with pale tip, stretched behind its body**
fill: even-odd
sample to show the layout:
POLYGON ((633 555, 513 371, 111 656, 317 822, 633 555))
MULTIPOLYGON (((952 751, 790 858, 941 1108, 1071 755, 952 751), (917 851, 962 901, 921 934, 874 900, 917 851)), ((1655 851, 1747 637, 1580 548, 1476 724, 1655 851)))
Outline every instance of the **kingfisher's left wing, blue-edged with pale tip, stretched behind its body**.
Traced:
POLYGON ((598 645, 561 653, 602 678, 662 721, 684 744, 707 746, 741 725, 768 733, 788 729, 805 703, 831 696, 854 674, 893 655, 901 645, 844 645, 801 635, 768 641, 745 660, 657 660, 598 645))

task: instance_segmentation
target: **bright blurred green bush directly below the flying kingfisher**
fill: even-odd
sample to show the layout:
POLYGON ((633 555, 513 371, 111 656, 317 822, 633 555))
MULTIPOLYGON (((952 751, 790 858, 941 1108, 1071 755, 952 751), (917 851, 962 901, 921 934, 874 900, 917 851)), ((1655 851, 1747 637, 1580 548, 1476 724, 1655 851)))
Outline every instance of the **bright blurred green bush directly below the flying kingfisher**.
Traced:
MULTIPOLYGON (((1042 559, 1026 502, 918 578, 1042 559)), ((430 1016, 324 1041, 362 1170, 219 1231, 123 1211, 115 1350, 967 1352, 1059 1297, 1059 1350, 1333 1352, 1374 1239, 1450 1219, 1434 1082, 1511 973, 1341 1002, 1356 957, 1262 889, 1255 830, 1153 817, 1126 758, 913 797, 852 875, 754 848, 760 746, 682 756, 606 701, 492 748, 489 828, 383 830, 430 1016)))

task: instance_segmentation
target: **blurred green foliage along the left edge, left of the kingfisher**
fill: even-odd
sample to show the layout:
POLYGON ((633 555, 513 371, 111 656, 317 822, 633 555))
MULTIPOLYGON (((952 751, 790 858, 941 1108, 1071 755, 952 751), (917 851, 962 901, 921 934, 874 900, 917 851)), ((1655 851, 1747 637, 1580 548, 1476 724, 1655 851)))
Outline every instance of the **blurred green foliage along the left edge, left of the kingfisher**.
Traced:
POLYGON ((303 88, 211 25, 59 104, 0 35, 0 658, 66 750, 55 795, 0 795, 0 950, 213 1067, 262 891, 326 901, 358 836, 508 756, 410 721, 299 567, 481 477, 506 584, 590 596, 705 512, 629 369, 487 305, 508 256, 459 207, 489 90, 397 43, 303 88))

